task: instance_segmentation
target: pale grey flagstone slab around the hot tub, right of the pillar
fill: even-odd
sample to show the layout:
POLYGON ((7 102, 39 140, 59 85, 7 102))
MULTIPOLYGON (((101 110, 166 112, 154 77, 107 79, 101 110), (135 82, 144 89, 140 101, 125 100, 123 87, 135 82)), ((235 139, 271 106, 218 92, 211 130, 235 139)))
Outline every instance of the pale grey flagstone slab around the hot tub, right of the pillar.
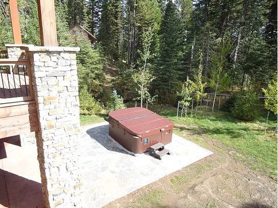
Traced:
POLYGON ((110 138, 108 123, 81 127, 85 207, 101 207, 213 152, 173 134, 162 160, 128 154, 110 138))

